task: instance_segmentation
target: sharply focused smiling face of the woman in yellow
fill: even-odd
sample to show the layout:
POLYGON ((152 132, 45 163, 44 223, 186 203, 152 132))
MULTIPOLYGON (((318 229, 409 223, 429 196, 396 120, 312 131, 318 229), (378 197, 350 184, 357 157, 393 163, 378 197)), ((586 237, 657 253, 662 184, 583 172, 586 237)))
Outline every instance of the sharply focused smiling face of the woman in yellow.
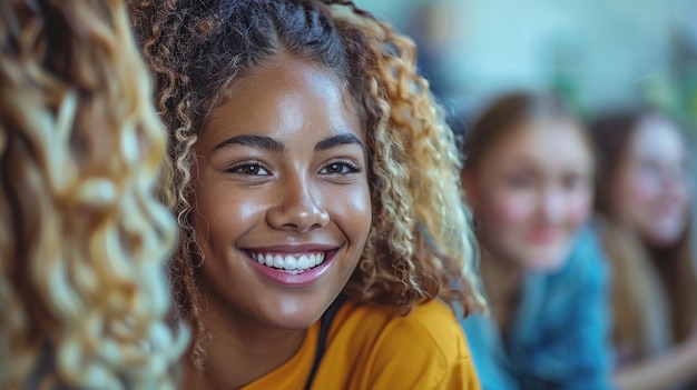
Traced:
POLYGON ((198 283, 217 317, 277 329, 316 321, 371 227, 366 143, 330 71, 283 59, 233 86, 196 144, 198 283))

